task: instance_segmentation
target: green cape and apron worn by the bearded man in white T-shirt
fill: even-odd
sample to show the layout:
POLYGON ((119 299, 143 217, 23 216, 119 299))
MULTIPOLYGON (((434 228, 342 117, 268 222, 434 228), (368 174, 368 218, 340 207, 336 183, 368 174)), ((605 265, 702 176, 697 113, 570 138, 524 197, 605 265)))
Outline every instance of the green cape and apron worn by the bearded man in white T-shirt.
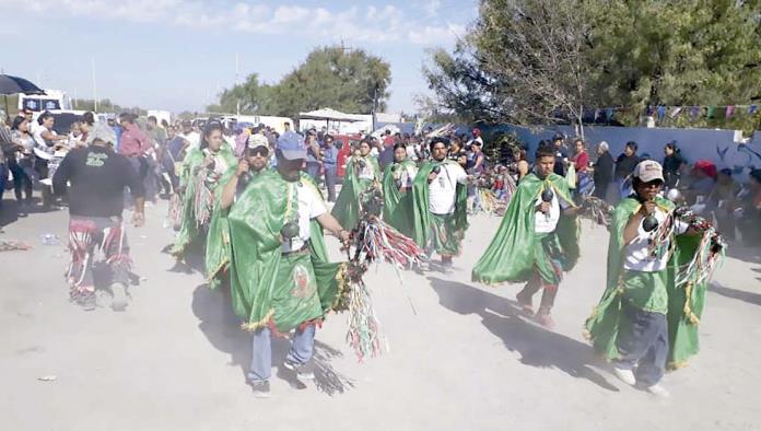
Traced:
POLYGON ((414 223, 412 240, 423 248, 433 244, 436 253, 442 256, 455 256, 459 254, 460 242, 468 229, 468 188, 464 184, 457 184, 455 212, 447 215, 432 213, 428 177, 434 166, 442 164, 458 165, 450 160, 426 161, 420 166, 412 183, 412 221, 414 223))

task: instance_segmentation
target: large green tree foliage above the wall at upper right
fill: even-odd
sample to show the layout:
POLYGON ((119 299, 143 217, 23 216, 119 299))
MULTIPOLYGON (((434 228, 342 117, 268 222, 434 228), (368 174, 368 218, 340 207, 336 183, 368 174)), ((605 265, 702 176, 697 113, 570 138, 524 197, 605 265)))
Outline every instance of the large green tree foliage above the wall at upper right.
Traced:
MULTIPOLYGON (((627 106, 616 119, 634 125, 647 106, 761 102, 759 0, 482 0, 471 28, 423 72, 440 105, 475 119, 627 106)), ((686 108, 662 126, 759 126, 744 113, 692 119, 686 108)))

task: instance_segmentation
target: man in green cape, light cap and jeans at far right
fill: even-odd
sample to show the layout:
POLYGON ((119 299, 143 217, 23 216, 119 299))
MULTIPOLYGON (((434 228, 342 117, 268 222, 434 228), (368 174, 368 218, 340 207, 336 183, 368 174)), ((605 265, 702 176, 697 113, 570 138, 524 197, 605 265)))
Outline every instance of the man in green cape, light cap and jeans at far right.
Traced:
POLYGON ((695 251, 698 236, 686 223, 655 240, 674 203, 658 196, 664 175, 655 161, 640 162, 632 174, 634 194, 616 207, 608 246, 608 281, 586 322, 595 351, 613 362, 616 375, 652 394, 667 365, 678 368, 698 352, 698 323, 706 282, 677 288, 675 275, 695 251))

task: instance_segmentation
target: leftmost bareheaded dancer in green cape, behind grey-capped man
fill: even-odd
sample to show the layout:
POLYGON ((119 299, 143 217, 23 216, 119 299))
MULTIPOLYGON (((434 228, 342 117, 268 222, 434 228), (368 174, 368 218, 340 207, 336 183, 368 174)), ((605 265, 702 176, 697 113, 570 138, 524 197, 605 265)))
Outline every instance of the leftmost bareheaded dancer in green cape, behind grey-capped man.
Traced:
POLYGON ((185 158, 183 221, 171 252, 177 260, 185 258, 190 244, 206 236, 220 179, 235 166, 235 155, 222 138, 222 128, 220 121, 209 121, 200 147, 185 158))

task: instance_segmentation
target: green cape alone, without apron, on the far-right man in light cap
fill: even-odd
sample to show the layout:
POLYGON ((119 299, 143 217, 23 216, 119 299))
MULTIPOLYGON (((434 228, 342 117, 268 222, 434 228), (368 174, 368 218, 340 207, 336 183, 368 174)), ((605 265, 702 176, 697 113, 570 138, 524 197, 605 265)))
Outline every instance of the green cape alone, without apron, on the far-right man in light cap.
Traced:
MULTIPOLYGON (((656 198, 656 205, 666 211, 674 209, 674 203, 660 197, 656 198)), ((623 293, 623 230, 631 215, 640 210, 640 206, 636 199, 630 197, 623 199, 613 210, 608 246, 607 288, 585 325, 585 335, 593 342, 595 351, 608 360, 619 357, 616 339, 623 293)), ((668 266, 659 273, 659 277, 665 278, 668 292, 669 369, 686 365, 687 360, 700 350, 698 325, 705 305, 707 282, 688 284, 686 289, 677 288, 675 283, 679 267, 692 258, 699 242, 699 235, 677 235, 671 241, 674 249, 668 266)))

